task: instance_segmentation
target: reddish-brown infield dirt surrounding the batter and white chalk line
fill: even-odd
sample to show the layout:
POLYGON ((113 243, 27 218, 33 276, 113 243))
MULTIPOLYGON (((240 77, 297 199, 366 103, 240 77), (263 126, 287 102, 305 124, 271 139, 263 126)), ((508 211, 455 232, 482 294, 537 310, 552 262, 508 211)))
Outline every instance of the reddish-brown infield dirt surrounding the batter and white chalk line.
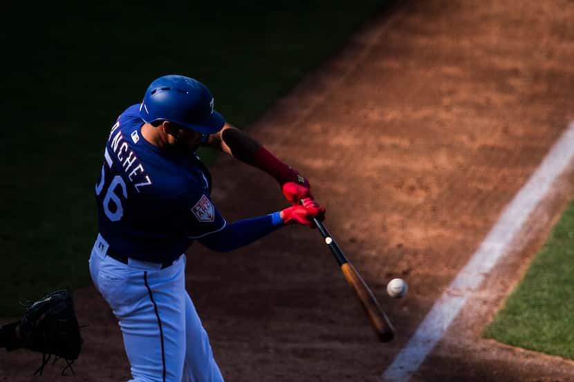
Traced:
MULTIPOLYGON (((377 381, 574 120, 574 3, 398 3, 248 130, 310 178, 396 341, 376 342, 316 231, 286 227, 230 254, 194 245, 187 289, 228 381, 377 381), (393 277, 407 298, 386 297, 393 277)), ((229 221, 286 206, 274 180, 230 158, 212 175, 229 221)), ((574 381, 571 361, 480 337, 573 181, 570 167, 412 381, 574 381)), ((127 380, 115 318, 93 287, 76 298, 91 325, 76 379, 127 380)), ((38 362, 3 356, 0 381, 36 380, 38 362)))

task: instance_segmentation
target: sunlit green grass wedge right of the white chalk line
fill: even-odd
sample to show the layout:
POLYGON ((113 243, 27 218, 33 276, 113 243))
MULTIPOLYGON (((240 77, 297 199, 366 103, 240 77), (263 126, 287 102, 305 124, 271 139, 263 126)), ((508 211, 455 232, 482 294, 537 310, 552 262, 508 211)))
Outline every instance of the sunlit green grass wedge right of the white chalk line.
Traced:
POLYGON ((484 336, 574 359, 573 275, 574 201, 484 336))

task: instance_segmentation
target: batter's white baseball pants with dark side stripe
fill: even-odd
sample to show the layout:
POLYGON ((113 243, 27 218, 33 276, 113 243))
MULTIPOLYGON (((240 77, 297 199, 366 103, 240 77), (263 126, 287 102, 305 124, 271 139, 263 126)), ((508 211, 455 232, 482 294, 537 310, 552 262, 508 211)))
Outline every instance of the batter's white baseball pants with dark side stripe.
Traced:
POLYGON ((106 256, 98 235, 90 274, 118 318, 129 382, 223 382, 205 329, 185 290, 185 255, 173 265, 106 256))

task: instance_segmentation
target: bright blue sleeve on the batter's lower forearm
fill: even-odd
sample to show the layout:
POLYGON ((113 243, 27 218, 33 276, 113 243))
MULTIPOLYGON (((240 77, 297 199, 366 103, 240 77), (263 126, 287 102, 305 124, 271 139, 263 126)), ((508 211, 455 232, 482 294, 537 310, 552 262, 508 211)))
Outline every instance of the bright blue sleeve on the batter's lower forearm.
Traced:
POLYGON ((268 235, 283 225, 279 212, 266 216, 239 220, 225 226, 221 231, 210 233, 198 241, 218 252, 232 251, 268 235))

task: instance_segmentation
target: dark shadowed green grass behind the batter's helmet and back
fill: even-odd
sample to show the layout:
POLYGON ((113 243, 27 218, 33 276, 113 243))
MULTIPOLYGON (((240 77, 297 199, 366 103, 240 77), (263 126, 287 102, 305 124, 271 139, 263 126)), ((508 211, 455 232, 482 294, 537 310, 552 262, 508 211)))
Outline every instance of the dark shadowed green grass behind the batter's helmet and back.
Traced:
MULTIPOLYGON (((93 185, 115 117, 151 79, 195 77, 252 122, 385 0, 12 2, 0 16, 0 315, 88 285, 93 185)), ((288 128, 288 126, 286 126, 288 128)))

